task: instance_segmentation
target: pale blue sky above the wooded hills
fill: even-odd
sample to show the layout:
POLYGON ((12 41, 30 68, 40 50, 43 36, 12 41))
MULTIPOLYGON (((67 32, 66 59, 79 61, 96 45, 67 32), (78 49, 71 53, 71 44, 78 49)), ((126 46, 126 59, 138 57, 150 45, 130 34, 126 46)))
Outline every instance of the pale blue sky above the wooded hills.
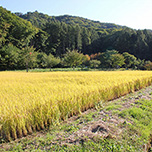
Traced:
POLYGON ((152 0, 0 0, 11 12, 74 15, 100 22, 152 29, 152 0))

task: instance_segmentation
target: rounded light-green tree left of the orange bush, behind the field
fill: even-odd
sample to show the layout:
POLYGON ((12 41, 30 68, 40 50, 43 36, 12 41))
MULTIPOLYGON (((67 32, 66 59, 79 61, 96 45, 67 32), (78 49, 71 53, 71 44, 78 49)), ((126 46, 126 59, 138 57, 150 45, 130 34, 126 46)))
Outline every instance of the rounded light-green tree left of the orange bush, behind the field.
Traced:
POLYGON ((84 55, 78 50, 68 51, 64 54, 63 64, 75 68, 83 63, 84 55))

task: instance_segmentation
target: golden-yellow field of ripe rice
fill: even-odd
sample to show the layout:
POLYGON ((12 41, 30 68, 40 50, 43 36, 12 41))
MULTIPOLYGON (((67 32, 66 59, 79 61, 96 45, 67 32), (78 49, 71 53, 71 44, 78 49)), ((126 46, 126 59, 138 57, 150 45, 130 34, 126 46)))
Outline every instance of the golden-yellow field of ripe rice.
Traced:
POLYGON ((152 84, 152 71, 0 72, 0 139, 11 140, 152 84))

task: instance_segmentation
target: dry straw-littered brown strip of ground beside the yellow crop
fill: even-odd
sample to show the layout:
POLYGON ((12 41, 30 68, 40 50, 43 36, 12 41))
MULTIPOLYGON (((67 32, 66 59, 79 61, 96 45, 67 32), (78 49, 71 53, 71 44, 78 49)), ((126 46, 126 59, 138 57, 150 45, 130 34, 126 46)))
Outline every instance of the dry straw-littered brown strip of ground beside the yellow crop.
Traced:
MULTIPOLYGON (((145 100, 151 100, 152 99, 152 87, 147 87, 146 89, 142 89, 140 91, 137 91, 135 93, 123 96, 119 99, 109 101, 110 105, 113 103, 114 106, 107 105, 109 103, 103 103, 103 108, 99 111, 92 109, 88 110, 84 113, 82 113, 81 117, 73 117, 70 118, 67 123, 72 124, 74 120, 77 119, 79 122, 77 124, 78 130, 71 135, 69 134, 68 137, 63 137, 64 141, 62 141, 62 144, 70 143, 70 144, 76 144, 82 140, 88 140, 89 139, 95 139, 98 137, 102 138, 116 138, 119 137, 119 135, 123 131, 123 125, 125 123, 132 123, 130 120, 123 119, 117 115, 117 112, 122 111, 124 109, 133 107, 136 105, 136 102, 138 100, 145 99, 145 100), (122 106, 117 106, 117 102, 122 102, 122 106), (106 107, 106 109, 104 108, 106 107), (110 110, 112 108, 112 110, 110 110), (113 109, 116 108, 114 113, 113 109), (89 117, 92 117, 91 121, 85 122, 84 118, 85 115, 88 115, 89 117), (84 118, 83 118, 84 116, 84 118), (81 119, 83 121, 81 121, 81 119)), ((60 138, 61 139, 61 138, 60 138)), ((58 139, 57 139, 58 140, 58 139)))

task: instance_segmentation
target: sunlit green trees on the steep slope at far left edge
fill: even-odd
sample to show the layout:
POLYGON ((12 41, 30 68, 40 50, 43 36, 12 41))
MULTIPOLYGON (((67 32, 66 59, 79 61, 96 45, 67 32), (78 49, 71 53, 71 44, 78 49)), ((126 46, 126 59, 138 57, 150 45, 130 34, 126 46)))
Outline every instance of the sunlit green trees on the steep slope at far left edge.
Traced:
POLYGON ((12 43, 18 48, 29 36, 34 35, 38 30, 26 20, 0 7, 0 42, 1 47, 12 43))

